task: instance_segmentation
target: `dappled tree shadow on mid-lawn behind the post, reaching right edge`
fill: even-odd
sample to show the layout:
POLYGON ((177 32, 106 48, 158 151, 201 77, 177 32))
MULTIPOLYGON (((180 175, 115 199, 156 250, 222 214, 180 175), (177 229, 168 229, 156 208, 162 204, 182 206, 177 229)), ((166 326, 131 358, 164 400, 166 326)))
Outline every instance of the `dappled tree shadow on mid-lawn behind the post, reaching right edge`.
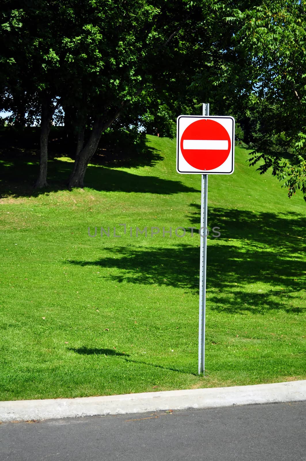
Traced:
MULTIPOLYGON (((221 237, 208 239, 207 306, 231 313, 305 312, 305 218, 220 208, 211 209, 210 216, 226 221, 220 225, 221 237), (260 226, 258 216, 265 218, 260 226)), ((68 262, 104 269, 101 283, 104 278, 118 284, 166 285, 197 295, 200 237, 194 239, 194 246, 104 248, 106 256, 98 260, 68 262)))

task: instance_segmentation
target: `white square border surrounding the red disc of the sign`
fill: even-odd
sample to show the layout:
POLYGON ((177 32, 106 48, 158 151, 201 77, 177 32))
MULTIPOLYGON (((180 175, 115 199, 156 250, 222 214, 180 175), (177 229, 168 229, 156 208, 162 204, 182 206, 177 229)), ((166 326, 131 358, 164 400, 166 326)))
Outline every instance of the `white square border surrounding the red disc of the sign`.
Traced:
POLYGON ((234 172, 234 157, 235 157, 235 119, 233 117, 224 115, 224 116, 209 116, 209 115, 179 115, 177 117, 177 172, 180 174, 232 174, 234 172), (188 123, 183 129, 180 130, 180 119, 181 118, 194 118, 194 120, 190 123, 188 123), (228 127, 224 126, 225 130, 229 133, 230 136, 230 141, 231 141, 231 152, 228 156, 228 158, 224 161, 224 163, 218 168, 215 168, 213 170, 198 170, 197 168, 194 168, 191 165, 188 165, 187 161, 183 158, 182 152, 180 149, 180 143, 181 143, 181 137, 184 132, 184 130, 187 128, 188 125, 193 123, 196 120, 200 120, 203 118, 210 118, 212 120, 216 120, 216 122, 220 123, 221 125, 224 126, 222 123, 222 120, 228 120, 230 119, 232 121, 232 129, 229 130, 228 127), (180 164, 186 164, 188 171, 180 171, 179 170, 179 163, 180 164), (227 166, 227 171, 220 171, 220 169, 224 169, 224 166, 227 166), (230 171, 229 171, 230 170, 230 171))

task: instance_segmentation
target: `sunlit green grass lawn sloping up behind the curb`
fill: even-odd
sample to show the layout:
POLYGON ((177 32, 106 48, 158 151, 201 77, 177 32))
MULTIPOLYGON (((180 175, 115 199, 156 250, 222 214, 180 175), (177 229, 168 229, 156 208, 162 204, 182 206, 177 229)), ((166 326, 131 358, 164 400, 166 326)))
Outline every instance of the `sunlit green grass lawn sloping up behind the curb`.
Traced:
POLYGON ((138 167, 102 158, 73 191, 69 158, 50 160, 52 187, 35 194, 37 155, 0 158, 0 400, 306 378, 306 204, 245 150, 208 181, 204 377, 200 236, 175 234, 200 227, 200 175, 177 174, 175 140, 148 136, 138 167))

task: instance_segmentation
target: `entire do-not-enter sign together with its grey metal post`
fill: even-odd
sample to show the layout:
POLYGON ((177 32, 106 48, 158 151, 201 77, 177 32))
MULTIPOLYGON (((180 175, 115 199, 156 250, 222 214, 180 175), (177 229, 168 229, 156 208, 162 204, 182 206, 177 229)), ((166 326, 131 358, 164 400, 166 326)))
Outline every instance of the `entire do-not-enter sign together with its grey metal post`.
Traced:
POLYGON ((209 115, 203 104, 202 115, 177 117, 177 172, 200 174, 200 303, 199 303, 199 374, 205 372, 206 243, 207 192, 209 174, 232 174, 234 171, 235 119, 209 115))

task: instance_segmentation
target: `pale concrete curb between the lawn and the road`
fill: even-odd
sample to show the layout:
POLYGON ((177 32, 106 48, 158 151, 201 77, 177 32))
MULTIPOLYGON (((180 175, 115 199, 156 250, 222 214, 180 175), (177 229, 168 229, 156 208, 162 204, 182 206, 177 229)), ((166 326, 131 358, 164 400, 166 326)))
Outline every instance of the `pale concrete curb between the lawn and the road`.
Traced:
POLYGON ((306 380, 212 389, 144 392, 121 396, 0 402, 0 421, 46 420, 301 401, 306 401, 306 380))

